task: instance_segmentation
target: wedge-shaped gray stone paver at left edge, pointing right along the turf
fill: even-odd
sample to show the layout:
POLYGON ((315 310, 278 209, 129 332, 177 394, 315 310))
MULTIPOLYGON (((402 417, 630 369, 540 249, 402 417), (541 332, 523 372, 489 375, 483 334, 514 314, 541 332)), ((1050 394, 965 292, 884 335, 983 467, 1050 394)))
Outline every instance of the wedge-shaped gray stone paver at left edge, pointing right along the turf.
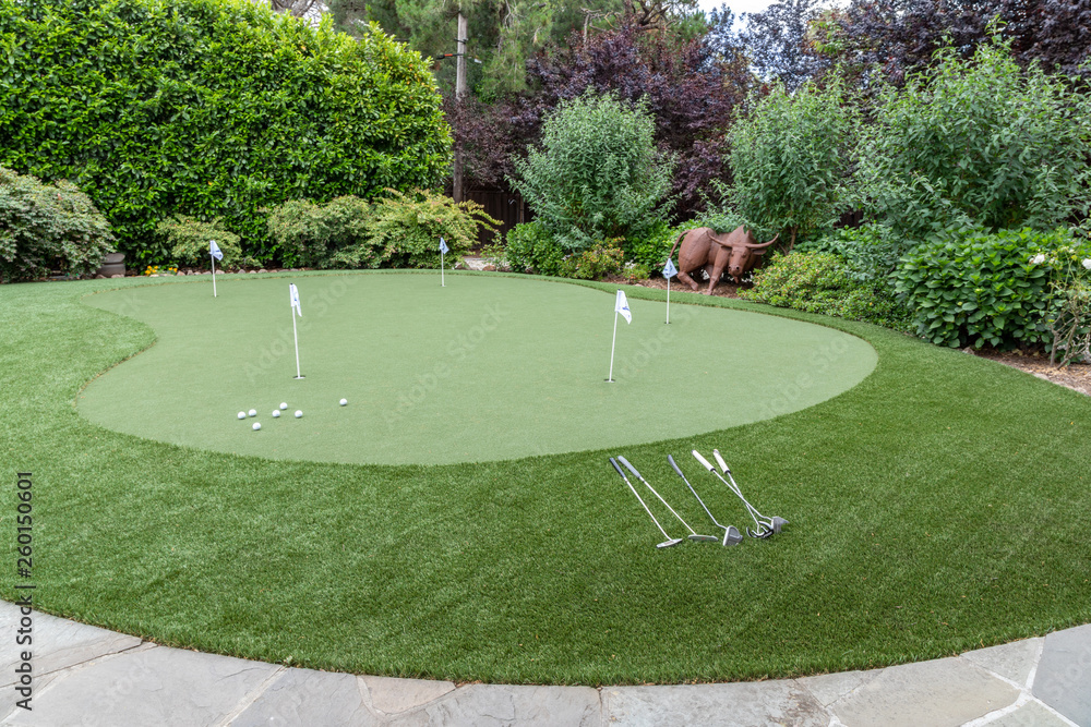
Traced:
MULTIPOLYGON (((0 633, 13 634, 0 650, 0 688, 15 683, 15 662, 21 647, 14 643, 22 614, 19 606, 0 602, 0 633), (10 644, 10 645, 9 645, 10 644)), ((32 649, 34 671, 48 674, 81 664, 96 656, 134 649, 141 641, 136 637, 115 633, 96 626, 77 623, 48 614, 32 614, 32 649)))

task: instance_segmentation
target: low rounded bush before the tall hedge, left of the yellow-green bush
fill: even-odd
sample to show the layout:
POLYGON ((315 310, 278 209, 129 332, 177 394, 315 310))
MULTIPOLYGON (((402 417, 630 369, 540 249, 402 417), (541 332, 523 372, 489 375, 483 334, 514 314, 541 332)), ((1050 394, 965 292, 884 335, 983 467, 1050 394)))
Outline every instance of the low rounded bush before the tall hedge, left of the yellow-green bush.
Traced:
POLYGON ((346 195, 316 205, 291 199, 268 210, 273 250, 290 267, 379 267, 381 255, 368 241, 372 206, 346 195))

